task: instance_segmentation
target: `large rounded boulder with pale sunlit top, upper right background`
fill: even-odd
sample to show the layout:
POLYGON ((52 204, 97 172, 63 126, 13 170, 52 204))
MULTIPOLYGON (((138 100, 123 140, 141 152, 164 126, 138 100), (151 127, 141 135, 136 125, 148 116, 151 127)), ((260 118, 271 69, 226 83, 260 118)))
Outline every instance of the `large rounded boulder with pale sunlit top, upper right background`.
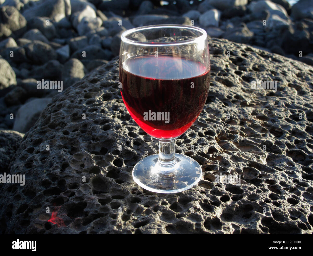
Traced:
POLYGON ((257 14, 262 10, 269 11, 270 15, 276 14, 280 18, 288 19, 288 14, 286 10, 279 4, 273 3, 269 0, 262 0, 262 1, 253 1, 248 5, 249 10, 252 14, 257 14))

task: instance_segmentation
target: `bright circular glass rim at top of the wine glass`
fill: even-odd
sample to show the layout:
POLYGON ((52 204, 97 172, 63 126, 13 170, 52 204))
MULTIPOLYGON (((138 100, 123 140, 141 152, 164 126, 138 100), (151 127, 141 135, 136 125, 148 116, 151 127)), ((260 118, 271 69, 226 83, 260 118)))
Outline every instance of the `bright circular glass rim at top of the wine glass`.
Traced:
POLYGON ((150 25, 150 26, 144 26, 144 27, 138 27, 138 28, 131 28, 128 29, 126 31, 124 31, 121 35, 121 40, 124 43, 128 43, 128 44, 132 44, 132 45, 138 45, 138 46, 174 46, 174 45, 184 45, 184 44, 191 44, 191 43, 196 43, 197 41, 200 40, 205 40, 207 39, 207 32, 202 29, 202 28, 198 28, 198 27, 194 27, 194 26, 188 26, 188 25, 177 25, 177 24, 162 24, 162 25, 150 25), (191 30, 195 30, 198 32, 201 32, 202 35, 193 38, 193 39, 188 39, 185 41, 179 41, 179 42, 164 42, 164 43, 146 43, 146 42, 141 42, 141 41, 136 41, 136 40, 131 40, 126 38, 126 36, 128 36, 131 33, 134 32, 140 32, 142 30, 147 30, 147 29, 151 29, 151 28, 187 28, 187 29, 191 29, 191 30))

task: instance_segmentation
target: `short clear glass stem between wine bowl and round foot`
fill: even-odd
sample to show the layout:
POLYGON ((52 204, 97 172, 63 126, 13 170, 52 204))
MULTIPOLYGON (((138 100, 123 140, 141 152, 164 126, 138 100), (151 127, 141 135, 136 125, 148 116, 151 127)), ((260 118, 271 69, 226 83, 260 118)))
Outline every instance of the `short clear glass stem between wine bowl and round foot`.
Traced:
POLYGON ((170 168, 175 165, 175 140, 159 140, 159 165, 170 168))

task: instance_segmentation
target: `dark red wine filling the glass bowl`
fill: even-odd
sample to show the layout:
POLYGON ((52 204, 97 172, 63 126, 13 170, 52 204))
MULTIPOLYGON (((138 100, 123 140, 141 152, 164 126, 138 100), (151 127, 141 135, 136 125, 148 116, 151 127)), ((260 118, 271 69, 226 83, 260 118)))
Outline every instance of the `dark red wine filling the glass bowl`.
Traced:
POLYGON ((177 138, 201 113, 210 70, 196 60, 142 55, 120 63, 121 94, 136 123, 154 138, 177 138))

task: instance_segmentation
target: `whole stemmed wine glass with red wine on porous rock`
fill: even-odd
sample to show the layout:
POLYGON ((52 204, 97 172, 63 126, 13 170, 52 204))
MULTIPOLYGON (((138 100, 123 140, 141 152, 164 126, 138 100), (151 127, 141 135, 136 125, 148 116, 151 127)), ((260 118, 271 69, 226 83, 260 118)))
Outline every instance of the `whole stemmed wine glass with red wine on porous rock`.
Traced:
POLYGON ((175 138, 198 118, 210 84, 205 30, 185 25, 133 28, 121 35, 121 95, 135 122, 159 140, 159 153, 133 168, 135 182, 156 193, 177 193, 202 176, 194 159, 175 153, 175 138))

